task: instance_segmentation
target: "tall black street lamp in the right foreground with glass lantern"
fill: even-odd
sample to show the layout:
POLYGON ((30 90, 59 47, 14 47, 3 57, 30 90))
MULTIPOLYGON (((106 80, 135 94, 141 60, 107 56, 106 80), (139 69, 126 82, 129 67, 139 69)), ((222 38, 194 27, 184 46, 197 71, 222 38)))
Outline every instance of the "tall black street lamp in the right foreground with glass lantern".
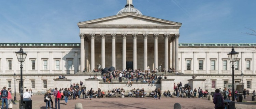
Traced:
POLYGON ((234 63, 237 60, 239 52, 234 51, 234 47, 232 46, 231 52, 228 53, 228 58, 230 63, 232 63, 232 101, 234 102, 234 63))

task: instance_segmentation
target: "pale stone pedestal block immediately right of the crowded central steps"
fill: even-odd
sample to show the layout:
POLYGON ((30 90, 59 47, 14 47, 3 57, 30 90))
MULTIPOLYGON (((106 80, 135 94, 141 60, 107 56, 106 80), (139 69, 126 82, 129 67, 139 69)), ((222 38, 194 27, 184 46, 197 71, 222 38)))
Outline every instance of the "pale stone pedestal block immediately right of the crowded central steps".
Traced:
POLYGON ((161 91, 173 91, 173 83, 175 79, 162 79, 161 80, 161 91))

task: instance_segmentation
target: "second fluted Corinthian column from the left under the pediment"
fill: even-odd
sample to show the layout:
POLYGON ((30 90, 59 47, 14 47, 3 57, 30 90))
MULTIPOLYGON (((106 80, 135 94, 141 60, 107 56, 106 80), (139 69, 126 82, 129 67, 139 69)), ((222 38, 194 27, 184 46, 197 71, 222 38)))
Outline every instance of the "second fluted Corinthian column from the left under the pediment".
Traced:
POLYGON ((94 39, 95 39, 95 34, 90 34, 91 38, 91 70, 95 68, 95 48, 94 48, 94 39))

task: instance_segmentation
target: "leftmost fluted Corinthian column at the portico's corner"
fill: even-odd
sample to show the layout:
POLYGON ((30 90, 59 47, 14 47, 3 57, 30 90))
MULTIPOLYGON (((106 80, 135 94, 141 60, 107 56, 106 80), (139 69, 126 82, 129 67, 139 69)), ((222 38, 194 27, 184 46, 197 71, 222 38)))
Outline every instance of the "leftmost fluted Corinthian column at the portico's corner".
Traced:
POLYGON ((84 58, 85 58, 85 56, 84 56, 84 37, 85 37, 85 35, 84 34, 79 34, 79 36, 80 36, 80 39, 81 39, 81 45, 80 45, 80 54, 81 54, 81 56, 80 56, 80 71, 83 71, 84 70, 84 58))

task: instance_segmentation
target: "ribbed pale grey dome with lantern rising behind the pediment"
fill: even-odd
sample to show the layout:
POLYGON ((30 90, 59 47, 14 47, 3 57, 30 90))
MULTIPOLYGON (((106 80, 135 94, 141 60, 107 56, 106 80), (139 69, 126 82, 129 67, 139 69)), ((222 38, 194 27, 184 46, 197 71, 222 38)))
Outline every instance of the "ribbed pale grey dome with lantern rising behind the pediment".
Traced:
POLYGON ((142 13, 138 9, 133 7, 132 0, 127 0, 127 4, 125 5, 125 7, 119 10, 119 12, 116 15, 125 14, 125 13, 134 13, 134 14, 142 15, 142 13))

